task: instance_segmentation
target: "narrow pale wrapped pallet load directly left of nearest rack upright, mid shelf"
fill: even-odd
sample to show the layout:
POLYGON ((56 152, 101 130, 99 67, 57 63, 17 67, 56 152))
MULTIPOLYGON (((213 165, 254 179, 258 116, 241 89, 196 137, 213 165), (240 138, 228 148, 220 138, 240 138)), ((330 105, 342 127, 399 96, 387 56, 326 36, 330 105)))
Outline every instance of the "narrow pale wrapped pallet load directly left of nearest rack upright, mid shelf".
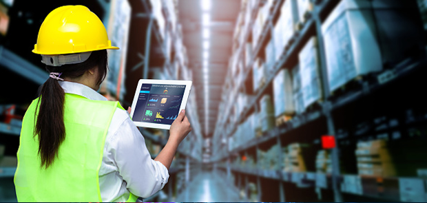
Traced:
POLYGON ((315 36, 304 45, 298 58, 300 59, 302 98, 305 109, 322 99, 320 60, 315 36))

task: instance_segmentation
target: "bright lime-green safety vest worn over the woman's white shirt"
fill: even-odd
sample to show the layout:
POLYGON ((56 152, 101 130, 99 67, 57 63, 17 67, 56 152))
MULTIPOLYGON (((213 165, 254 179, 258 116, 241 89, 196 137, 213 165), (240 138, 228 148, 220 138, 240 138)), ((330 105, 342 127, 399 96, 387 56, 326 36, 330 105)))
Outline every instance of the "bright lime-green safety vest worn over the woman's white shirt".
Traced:
MULTIPOLYGON (((102 202, 98 172, 105 137, 118 102, 65 94, 65 140, 48 169, 41 168, 39 138, 33 136, 33 100, 23 118, 14 184, 19 202, 102 202)), ((50 122, 50 121, 48 121, 50 122)), ((130 193, 127 202, 137 197, 130 193)))

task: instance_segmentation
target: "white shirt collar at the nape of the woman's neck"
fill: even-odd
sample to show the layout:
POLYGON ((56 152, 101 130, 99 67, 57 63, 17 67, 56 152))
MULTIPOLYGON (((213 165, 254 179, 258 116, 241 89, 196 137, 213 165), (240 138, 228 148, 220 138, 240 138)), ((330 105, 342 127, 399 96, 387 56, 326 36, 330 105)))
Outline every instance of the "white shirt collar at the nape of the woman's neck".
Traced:
POLYGON ((90 100, 107 100, 105 96, 102 96, 94 89, 87 87, 81 83, 73 83, 69 81, 58 81, 65 93, 77 94, 88 98, 90 100))

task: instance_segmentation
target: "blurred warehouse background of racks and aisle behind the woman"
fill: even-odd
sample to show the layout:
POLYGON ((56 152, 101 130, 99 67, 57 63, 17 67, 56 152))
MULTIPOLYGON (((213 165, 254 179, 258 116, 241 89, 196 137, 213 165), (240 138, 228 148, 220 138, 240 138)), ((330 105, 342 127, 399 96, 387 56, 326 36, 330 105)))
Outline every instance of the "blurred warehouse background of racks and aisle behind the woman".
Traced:
MULTIPOLYGON (((54 8, 112 45, 99 92, 191 80, 165 188, 145 202, 426 202, 427 1, 0 0, 0 201, 16 202, 22 118, 48 78, 31 52, 54 8)), ((168 131, 143 129, 153 158, 168 131)))

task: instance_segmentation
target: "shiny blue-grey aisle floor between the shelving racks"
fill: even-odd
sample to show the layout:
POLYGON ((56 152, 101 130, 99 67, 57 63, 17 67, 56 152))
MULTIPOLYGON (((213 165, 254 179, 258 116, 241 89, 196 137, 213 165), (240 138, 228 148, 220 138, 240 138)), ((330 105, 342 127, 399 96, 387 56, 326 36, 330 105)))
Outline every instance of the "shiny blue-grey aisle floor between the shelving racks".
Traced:
POLYGON ((240 202, 237 189, 215 171, 201 171, 189 182, 175 202, 240 202))

